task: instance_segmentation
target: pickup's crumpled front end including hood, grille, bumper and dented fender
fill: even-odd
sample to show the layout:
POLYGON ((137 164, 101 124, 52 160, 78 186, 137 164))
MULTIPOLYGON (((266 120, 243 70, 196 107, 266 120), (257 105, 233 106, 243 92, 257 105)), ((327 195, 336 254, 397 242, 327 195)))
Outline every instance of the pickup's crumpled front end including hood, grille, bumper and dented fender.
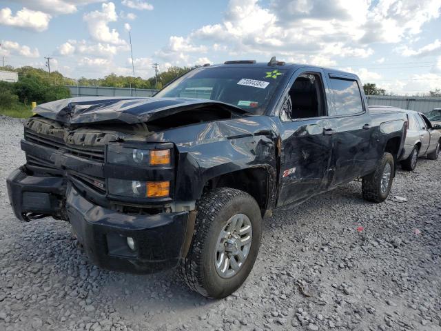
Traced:
POLYGON ((14 213, 69 221, 88 257, 111 270, 177 265, 205 183, 262 165, 258 150, 272 148, 261 123, 216 101, 69 99, 36 112, 21 141, 26 164, 8 177, 14 213), (214 141, 235 158, 214 157, 214 141))

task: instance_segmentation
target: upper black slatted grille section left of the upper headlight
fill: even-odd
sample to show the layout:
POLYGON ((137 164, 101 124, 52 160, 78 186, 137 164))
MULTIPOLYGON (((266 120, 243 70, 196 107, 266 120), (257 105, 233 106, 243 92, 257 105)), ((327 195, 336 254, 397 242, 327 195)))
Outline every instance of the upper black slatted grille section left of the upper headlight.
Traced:
POLYGON ((104 148, 103 146, 92 147, 92 146, 78 146, 70 145, 65 143, 63 139, 43 136, 37 134, 28 128, 25 128, 25 139, 31 143, 36 143, 37 145, 45 146, 48 148, 53 148, 54 150, 64 150, 65 152, 75 155, 77 157, 82 157, 84 159, 92 159, 94 161, 104 162, 104 148))

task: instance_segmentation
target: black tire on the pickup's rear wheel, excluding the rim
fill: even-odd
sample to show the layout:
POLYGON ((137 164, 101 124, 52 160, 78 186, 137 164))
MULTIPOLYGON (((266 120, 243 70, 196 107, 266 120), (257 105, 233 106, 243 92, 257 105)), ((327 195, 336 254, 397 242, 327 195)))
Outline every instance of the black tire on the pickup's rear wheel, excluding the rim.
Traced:
POLYGON ((376 203, 386 200, 391 191, 394 174, 395 162, 393 161, 393 156, 385 152, 380 162, 378 162, 376 170, 362 178, 361 188, 363 199, 376 203), (389 177, 384 177, 384 179, 387 180, 387 186, 383 186, 382 179, 387 168, 389 168, 389 177))

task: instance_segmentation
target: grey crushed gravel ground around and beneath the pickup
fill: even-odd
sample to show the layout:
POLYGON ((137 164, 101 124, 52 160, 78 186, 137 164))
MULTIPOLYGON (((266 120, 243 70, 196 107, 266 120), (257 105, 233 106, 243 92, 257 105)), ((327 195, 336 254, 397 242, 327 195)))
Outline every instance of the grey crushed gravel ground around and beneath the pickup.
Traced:
POLYGON ((441 330, 440 160, 400 170, 384 203, 354 181, 275 212, 252 274, 214 301, 176 270, 96 268, 68 223, 17 221, 5 180, 22 132, 0 117, 0 330, 441 330))

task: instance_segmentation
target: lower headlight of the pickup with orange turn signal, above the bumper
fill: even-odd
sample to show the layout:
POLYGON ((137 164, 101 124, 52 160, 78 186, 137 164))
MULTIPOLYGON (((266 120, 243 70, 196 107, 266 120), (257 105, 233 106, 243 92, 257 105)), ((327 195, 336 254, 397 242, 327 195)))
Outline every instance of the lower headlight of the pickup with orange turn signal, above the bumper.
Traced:
POLYGON ((170 195, 170 181, 127 181, 107 179, 109 194, 133 198, 162 198, 170 195))

